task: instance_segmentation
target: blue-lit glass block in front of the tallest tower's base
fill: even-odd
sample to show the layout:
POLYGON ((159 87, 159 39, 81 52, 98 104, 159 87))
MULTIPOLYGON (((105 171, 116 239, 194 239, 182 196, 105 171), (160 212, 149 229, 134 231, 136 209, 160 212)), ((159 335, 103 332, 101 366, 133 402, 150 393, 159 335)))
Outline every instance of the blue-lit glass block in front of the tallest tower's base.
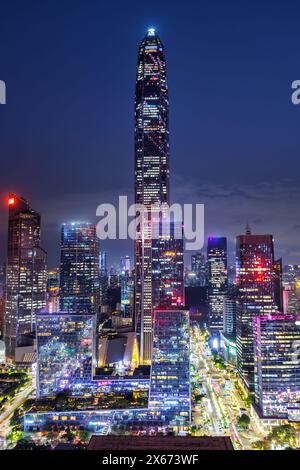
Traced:
POLYGON ((171 426, 191 420, 189 312, 154 312, 149 408, 171 426))

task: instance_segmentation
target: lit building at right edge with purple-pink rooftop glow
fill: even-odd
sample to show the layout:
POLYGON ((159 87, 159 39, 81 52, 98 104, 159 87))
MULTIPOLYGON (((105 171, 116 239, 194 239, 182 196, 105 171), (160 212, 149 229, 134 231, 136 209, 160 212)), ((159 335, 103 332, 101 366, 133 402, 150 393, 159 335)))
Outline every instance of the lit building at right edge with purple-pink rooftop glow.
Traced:
POLYGON ((264 417, 287 418, 300 401, 299 321, 275 314, 253 322, 256 404, 264 417))

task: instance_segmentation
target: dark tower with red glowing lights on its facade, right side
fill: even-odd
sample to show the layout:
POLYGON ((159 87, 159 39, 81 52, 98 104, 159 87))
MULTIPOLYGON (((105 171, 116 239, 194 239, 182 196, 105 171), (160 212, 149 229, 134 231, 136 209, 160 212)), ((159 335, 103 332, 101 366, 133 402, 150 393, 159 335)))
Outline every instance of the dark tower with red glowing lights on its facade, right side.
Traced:
POLYGON ((272 235, 252 235, 247 230, 236 240, 238 372, 253 390, 253 317, 275 312, 274 246, 272 235))

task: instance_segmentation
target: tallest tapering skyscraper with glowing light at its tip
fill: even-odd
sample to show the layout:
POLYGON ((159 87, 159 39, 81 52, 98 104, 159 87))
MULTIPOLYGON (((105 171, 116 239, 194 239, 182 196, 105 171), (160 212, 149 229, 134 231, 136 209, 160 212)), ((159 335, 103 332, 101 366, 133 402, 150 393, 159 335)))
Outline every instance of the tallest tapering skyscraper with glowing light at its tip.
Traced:
MULTIPOLYGON (((139 47, 135 92, 135 203, 147 210, 169 203, 169 98, 164 46, 149 29, 139 47)), ((162 210, 164 215, 164 210, 162 210)), ((152 228, 145 217, 135 241, 135 324, 141 363, 150 364, 153 298, 152 228)))

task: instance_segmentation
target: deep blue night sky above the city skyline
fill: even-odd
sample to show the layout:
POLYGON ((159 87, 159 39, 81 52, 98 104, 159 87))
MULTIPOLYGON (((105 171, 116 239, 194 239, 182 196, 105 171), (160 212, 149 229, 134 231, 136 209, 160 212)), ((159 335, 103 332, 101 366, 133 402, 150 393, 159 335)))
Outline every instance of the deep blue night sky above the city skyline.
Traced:
MULTIPOLYGON (((60 224, 96 221, 133 196, 138 45, 154 26, 167 54, 173 202, 205 204, 206 235, 231 254, 248 221, 300 263, 300 3, 1 0, 0 260, 8 192, 42 214, 49 267, 60 224)), ((132 243, 106 242, 109 262, 132 243)))

